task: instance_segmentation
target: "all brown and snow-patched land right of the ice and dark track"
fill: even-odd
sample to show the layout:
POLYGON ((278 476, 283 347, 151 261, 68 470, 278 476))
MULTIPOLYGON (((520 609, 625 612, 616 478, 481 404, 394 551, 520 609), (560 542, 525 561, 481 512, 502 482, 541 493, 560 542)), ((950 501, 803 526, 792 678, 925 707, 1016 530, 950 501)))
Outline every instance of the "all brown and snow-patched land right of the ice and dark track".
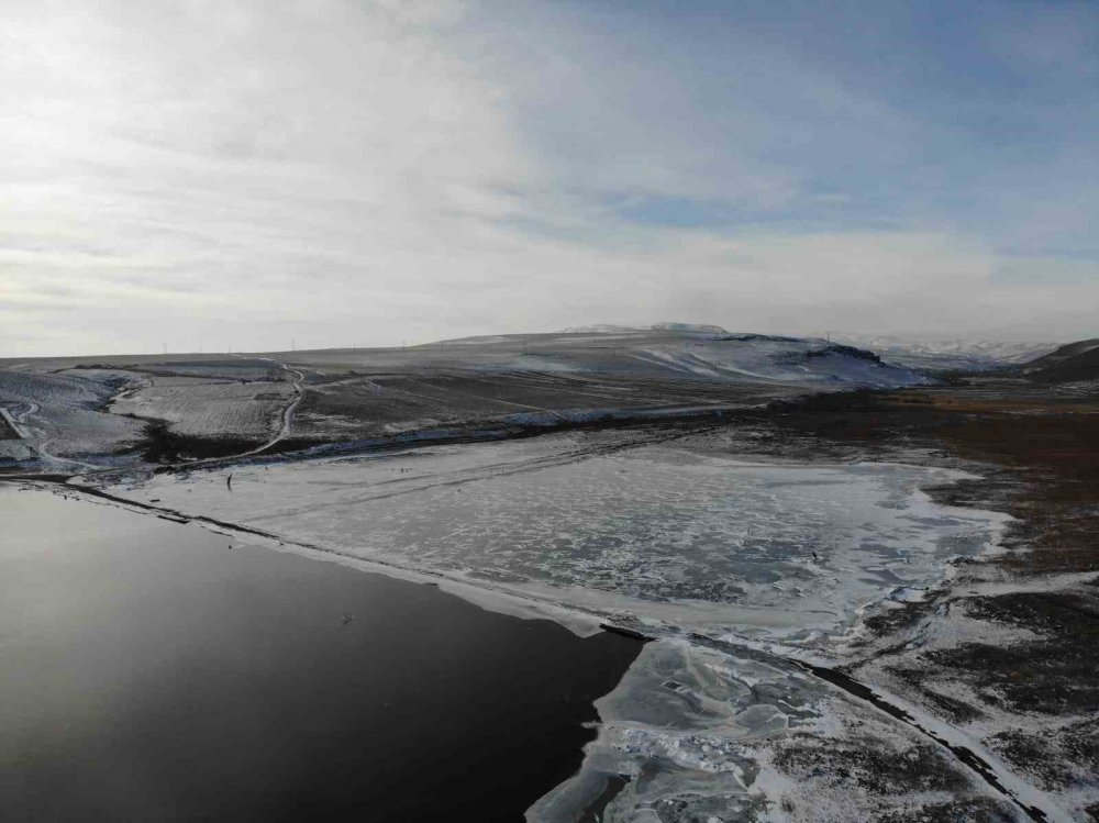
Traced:
POLYGON ((885 678, 887 688, 962 727, 1000 718, 1001 731, 983 743, 1035 786, 1067 792, 1062 802, 1080 820, 1099 821, 1092 802, 1099 796, 1099 586, 1073 575, 1099 570, 1099 397, 969 379, 811 398, 745 422, 758 427, 754 448, 764 453, 903 459, 980 475, 929 491, 1017 519, 1004 541, 1014 550, 972 565, 963 577, 1007 575, 1020 590, 955 591, 872 618, 876 638, 848 670, 872 682, 885 678), (918 629, 954 609, 970 627, 946 646, 922 646, 918 629), (981 625, 1025 630, 1039 640, 996 642, 996 631, 981 625))

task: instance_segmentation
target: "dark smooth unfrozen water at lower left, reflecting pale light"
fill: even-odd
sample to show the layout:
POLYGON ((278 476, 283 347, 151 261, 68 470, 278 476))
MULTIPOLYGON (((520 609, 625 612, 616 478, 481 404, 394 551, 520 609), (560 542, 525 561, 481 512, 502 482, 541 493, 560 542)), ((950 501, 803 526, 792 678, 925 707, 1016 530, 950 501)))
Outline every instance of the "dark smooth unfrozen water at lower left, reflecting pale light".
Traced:
POLYGON ((0 486, 3 820, 521 820, 640 650, 230 543, 0 486))

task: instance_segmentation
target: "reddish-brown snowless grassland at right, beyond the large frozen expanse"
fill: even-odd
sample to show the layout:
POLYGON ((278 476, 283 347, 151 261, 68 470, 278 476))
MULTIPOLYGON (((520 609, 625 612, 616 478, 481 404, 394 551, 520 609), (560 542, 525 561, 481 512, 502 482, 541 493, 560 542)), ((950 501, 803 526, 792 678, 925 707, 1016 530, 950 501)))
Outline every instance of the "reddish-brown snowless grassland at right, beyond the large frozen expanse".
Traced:
POLYGON ((907 456, 976 468, 977 482, 939 491, 1019 522, 1004 563, 1033 572, 1099 569, 1099 397, 1061 398, 1020 381, 810 398, 759 415, 766 452, 907 456))

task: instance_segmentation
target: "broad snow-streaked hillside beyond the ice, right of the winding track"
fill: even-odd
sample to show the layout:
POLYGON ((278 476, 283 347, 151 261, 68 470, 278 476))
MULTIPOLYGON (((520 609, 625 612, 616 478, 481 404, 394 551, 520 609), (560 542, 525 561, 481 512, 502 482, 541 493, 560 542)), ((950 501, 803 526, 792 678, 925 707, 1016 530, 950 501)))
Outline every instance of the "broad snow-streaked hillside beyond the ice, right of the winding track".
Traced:
POLYGON ((293 433, 317 441, 417 429, 559 425, 621 419, 623 411, 675 416, 928 382, 873 353, 823 340, 676 324, 271 357, 309 375, 293 433))

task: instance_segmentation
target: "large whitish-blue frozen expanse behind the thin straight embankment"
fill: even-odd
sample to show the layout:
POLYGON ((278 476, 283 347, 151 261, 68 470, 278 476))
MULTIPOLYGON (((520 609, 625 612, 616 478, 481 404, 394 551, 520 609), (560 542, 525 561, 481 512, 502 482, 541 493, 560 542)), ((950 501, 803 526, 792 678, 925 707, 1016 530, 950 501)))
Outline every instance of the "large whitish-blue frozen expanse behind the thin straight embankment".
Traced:
POLYGON ((711 636, 811 641, 912 597, 1001 519, 911 466, 746 464, 581 438, 162 476, 126 490, 364 559, 711 636))

